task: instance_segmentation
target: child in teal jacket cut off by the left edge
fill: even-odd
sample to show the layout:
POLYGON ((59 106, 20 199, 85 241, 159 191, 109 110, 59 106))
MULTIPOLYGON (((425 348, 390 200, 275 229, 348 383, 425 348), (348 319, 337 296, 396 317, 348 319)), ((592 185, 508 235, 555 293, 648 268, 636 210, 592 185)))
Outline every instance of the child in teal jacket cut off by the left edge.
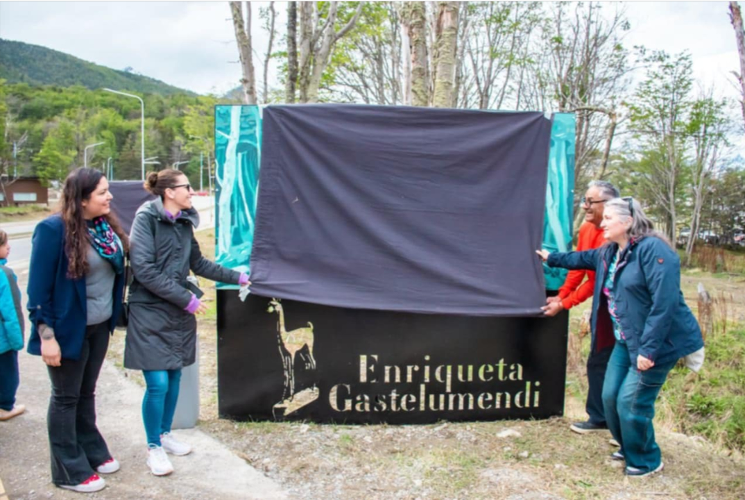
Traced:
POLYGON ((18 351, 23 349, 21 290, 16 275, 7 267, 10 243, 0 230, 0 421, 12 419, 26 409, 16 404, 18 351))

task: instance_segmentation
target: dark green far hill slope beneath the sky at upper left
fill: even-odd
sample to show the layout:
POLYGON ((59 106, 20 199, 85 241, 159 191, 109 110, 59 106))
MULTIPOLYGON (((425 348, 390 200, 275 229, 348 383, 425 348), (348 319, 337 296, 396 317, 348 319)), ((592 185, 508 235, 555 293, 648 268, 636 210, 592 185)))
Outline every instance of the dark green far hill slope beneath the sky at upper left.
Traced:
POLYGON ((81 85, 89 89, 110 87, 161 95, 194 94, 154 78, 99 66, 64 52, 3 39, 0 39, 0 78, 9 84, 81 85))

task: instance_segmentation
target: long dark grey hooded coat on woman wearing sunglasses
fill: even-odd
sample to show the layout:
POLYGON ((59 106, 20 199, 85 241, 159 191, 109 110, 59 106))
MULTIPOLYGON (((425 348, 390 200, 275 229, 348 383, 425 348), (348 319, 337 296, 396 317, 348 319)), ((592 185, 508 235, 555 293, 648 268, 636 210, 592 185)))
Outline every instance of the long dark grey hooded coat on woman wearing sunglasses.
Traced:
POLYGON ((130 234, 130 318, 124 366, 130 369, 180 369, 194 363, 197 320, 184 310, 192 292, 189 270, 214 281, 238 283, 240 273, 202 256, 194 228, 193 208, 176 220, 165 215, 162 200, 146 201, 137 210, 130 234))

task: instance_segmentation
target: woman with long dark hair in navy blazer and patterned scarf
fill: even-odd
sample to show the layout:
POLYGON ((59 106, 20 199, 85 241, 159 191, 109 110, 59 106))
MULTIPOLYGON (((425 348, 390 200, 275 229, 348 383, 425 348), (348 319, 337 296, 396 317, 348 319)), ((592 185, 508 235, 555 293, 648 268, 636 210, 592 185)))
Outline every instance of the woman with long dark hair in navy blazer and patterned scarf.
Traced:
POLYGON ((47 415, 52 481, 80 493, 103 489, 119 469, 95 419, 95 385, 121 311, 127 235, 111 212, 109 183, 95 169, 65 179, 60 213, 31 240, 28 352, 51 380, 47 415))

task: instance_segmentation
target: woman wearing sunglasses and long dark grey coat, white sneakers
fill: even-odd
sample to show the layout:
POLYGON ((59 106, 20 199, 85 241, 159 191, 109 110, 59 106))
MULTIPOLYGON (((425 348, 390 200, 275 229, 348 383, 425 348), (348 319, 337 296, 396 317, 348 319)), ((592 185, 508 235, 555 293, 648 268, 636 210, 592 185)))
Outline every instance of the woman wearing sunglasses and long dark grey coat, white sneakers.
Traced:
POLYGON ((199 215, 191 207, 194 190, 174 169, 150 172, 145 189, 156 199, 137 210, 130 233, 129 324, 124 366, 145 375, 142 419, 148 438, 148 466, 153 475, 174 471, 166 453, 185 455, 191 446, 171 435, 179 397, 181 369, 194 363, 197 313, 206 305, 187 281, 190 271, 223 283, 247 284, 248 276, 218 266, 202 256, 194 238, 199 215))

